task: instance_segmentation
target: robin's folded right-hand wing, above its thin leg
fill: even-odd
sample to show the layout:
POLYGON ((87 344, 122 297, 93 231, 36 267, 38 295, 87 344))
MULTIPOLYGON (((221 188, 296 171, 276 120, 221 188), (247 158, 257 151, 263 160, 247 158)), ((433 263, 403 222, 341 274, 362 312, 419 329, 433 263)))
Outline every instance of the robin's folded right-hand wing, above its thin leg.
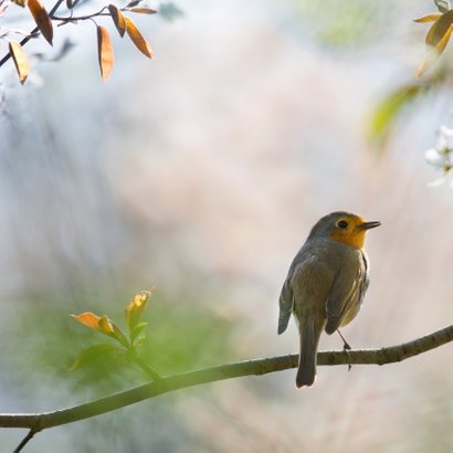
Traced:
POLYGON ((333 334, 358 313, 368 287, 365 262, 358 266, 341 266, 334 278, 327 301, 326 333, 333 334))

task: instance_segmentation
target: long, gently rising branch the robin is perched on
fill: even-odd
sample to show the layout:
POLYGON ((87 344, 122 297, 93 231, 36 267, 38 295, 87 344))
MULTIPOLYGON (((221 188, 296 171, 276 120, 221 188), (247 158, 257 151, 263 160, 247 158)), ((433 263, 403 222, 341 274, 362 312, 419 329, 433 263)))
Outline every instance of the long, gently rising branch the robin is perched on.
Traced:
MULTIPOLYGON (((415 340, 380 349, 357 349, 348 351, 320 351, 318 365, 384 365, 438 348, 453 341, 453 325, 415 340)), ((169 376, 157 381, 126 390, 73 408, 44 413, 0 414, 0 428, 29 428, 31 432, 88 419, 126 405, 168 393, 186 387, 200 386, 241 376, 261 376, 297 367, 298 355, 246 360, 222 365, 180 375, 169 376)))

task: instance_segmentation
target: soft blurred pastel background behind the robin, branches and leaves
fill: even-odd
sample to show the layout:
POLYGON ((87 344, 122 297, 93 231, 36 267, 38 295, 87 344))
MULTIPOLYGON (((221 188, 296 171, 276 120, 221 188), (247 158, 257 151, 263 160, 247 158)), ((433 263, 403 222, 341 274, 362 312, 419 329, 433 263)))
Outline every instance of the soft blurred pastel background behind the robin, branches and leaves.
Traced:
MULTIPOLYGON (((382 222, 368 235, 366 304, 343 331, 351 346, 452 323, 453 192, 426 188, 439 175, 423 158, 452 126, 449 84, 376 120, 415 83, 429 25, 412 19, 433 2, 162 7, 134 17, 152 61, 101 21, 116 52, 107 83, 92 23, 55 29, 54 51, 32 42, 49 57, 65 38, 76 45, 34 59, 23 87, 11 62, 1 67, 1 412, 145 382, 112 358, 70 371, 104 341, 70 314, 124 325, 127 302, 151 286, 143 355, 164 375, 297 352, 293 322, 276 335, 280 289, 310 227, 339 209, 382 222)), ((451 452, 452 364, 445 346, 397 365, 319 367, 301 391, 295 370, 215 382, 45 431, 25 451, 451 452)), ((1 430, 0 450, 24 434, 1 430)))

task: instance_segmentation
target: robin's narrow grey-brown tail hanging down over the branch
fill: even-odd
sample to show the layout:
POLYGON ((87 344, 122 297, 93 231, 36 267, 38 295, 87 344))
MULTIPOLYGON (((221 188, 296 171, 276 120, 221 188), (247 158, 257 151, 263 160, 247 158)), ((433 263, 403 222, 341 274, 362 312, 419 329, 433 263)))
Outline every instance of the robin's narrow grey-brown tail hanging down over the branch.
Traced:
POLYGON ((301 354, 296 376, 296 387, 312 386, 316 379, 316 355, 318 350, 322 326, 316 326, 314 319, 299 324, 301 354), (320 327, 320 328, 319 328, 320 327))

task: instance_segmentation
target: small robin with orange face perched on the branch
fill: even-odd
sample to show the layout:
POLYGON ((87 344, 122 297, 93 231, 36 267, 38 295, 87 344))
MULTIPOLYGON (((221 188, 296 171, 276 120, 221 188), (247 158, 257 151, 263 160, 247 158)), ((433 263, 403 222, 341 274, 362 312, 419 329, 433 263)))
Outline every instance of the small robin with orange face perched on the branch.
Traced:
MULTIPOLYGON (((301 341, 298 389, 310 387, 316 380, 316 356, 323 330, 334 334, 360 309, 370 270, 365 236, 380 224, 347 211, 324 215, 312 228, 289 266, 278 299, 277 333, 286 330, 293 314, 301 341)), ((345 349, 348 347, 345 341, 345 349)))

